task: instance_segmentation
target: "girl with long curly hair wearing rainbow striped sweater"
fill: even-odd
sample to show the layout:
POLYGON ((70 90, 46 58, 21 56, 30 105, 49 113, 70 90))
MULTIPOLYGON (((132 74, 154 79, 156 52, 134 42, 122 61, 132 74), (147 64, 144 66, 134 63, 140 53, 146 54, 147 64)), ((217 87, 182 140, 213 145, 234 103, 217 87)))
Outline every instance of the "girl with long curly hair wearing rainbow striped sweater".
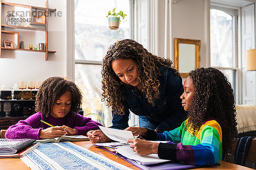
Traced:
POLYGON ((157 153, 162 159, 184 161, 186 164, 212 165, 225 158, 237 136, 234 92, 221 71, 198 68, 189 73, 180 96, 185 111, 189 111, 180 127, 156 133, 143 127, 129 127, 141 132, 147 140, 166 140, 154 143, 129 139, 131 148, 139 155, 157 153))

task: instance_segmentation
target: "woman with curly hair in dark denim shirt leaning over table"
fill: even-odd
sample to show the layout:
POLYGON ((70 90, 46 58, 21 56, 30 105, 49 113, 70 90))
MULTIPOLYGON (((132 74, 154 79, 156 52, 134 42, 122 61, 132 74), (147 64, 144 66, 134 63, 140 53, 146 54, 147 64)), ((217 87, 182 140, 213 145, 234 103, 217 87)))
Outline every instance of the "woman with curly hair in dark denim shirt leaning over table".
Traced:
MULTIPOLYGON (((102 78, 102 100, 112 107, 112 128, 128 127, 129 110, 139 116, 140 127, 158 132, 175 129, 186 119, 179 98, 183 93, 182 79, 172 61, 154 56, 134 40, 121 40, 110 46, 103 59, 102 78)), ((110 140, 100 130, 87 135, 92 142, 110 140)))

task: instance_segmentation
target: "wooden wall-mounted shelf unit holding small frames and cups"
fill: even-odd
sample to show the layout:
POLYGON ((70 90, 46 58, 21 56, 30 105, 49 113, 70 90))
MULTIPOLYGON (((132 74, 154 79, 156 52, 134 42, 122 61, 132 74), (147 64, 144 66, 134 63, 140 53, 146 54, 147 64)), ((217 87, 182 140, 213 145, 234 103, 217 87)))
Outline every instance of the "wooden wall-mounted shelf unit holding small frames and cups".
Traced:
MULTIPOLYGON (((52 12, 55 12, 56 9, 52 9, 52 8, 48 8, 48 0, 46 0, 46 8, 44 7, 38 7, 38 6, 28 6, 28 5, 22 5, 22 4, 17 4, 17 3, 7 3, 7 2, 3 2, 0 0, 0 10, 1 10, 1 17, 6 17, 5 15, 5 12, 4 11, 4 8, 13 8, 13 7, 16 7, 16 6, 19 6, 19 7, 23 7, 23 8, 29 8, 28 10, 30 11, 30 22, 25 22, 27 25, 25 27, 25 24, 23 24, 23 26, 9 26, 7 25, 6 21, 5 20, 1 20, 0 22, 0 25, 1 25, 1 34, 0 34, 0 40, 1 40, 1 43, 3 42, 3 38, 2 38, 2 34, 11 34, 10 32, 14 32, 14 31, 8 31, 6 30, 6 28, 12 28, 14 30, 19 30, 19 29, 22 29, 22 30, 33 30, 33 31, 44 31, 45 32, 45 49, 44 50, 30 50, 30 49, 20 49, 18 44, 20 43, 19 41, 17 42, 17 48, 4 48, 3 46, 1 46, 0 48, 0 56, 1 56, 1 51, 2 50, 5 50, 5 51, 10 51, 10 50, 19 50, 19 51, 33 51, 33 52, 44 52, 45 53, 45 60, 48 60, 48 54, 54 54, 56 51, 48 51, 48 17, 51 16, 50 14, 52 12), (34 11, 43 11, 42 12, 42 16, 40 15, 40 13, 36 13, 36 17, 43 17, 43 21, 41 21, 42 23, 40 22, 35 22, 34 20, 34 14, 33 12, 34 11), (37 16, 38 14, 38 16, 37 16), (28 27, 27 27, 28 26, 28 27), (32 26, 32 27, 30 27, 32 26)), ((25 10, 26 11, 26 10, 25 10)), ((22 16, 20 16, 22 18, 22 16)), ((22 24, 20 24, 22 25, 22 24)), ((18 33, 18 32, 17 32, 18 33)), ((13 33, 12 33, 13 34, 13 33)), ((19 40, 19 38, 17 38, 17 40, 19 40)))

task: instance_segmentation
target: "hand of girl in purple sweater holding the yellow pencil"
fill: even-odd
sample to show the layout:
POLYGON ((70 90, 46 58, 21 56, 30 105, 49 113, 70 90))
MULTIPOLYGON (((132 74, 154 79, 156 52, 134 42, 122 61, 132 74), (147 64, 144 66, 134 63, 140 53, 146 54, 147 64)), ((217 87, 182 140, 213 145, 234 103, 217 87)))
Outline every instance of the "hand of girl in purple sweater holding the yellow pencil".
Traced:
POLYGON ((62 127, 59 127, 59 126, 48 127, 47 129, 42 129, 39 131, 39 138, 52 139, 52 138, 61 137, 66 134, 67 132, 62 127))

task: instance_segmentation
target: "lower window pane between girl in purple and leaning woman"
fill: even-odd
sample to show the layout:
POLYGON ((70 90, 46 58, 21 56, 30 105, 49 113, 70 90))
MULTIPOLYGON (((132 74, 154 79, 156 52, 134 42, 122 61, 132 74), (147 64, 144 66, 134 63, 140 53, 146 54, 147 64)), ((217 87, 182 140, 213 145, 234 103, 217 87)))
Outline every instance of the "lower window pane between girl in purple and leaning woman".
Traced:
POLYGON ((84 111, 84 116, 91 117, 93 120, 98 122, 102 122, 102 120, 104 120, 105 126, 111 126, 111 110, 106 107, 105 102, 101 102, 101 80, 101 65, 75 65, 75 83, 82 91, 82 109, 84 111))

